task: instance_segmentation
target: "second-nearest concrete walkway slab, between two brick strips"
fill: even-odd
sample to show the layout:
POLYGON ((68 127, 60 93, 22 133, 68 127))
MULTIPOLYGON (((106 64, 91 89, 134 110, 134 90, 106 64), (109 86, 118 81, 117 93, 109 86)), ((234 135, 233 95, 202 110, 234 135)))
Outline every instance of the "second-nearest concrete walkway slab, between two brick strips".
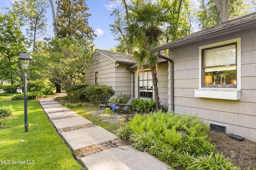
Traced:
POLYGON ((60 134, 67 141, 72 150, 77 150, 83 147, 88 147, 118 138, 118 136, 99 126, 88 127, 75 131, 67 131, 60 134))

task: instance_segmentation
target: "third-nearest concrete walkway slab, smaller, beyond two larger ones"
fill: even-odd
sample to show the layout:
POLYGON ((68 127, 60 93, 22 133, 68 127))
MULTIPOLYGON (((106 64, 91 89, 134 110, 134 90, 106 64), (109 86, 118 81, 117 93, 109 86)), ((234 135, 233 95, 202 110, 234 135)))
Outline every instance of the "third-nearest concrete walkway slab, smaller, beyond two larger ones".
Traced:
MULTIPOLYGON (((50 113, 50 114, 52 114, 52 113, 50 113)), ((56 129, 62 129, 64 127, 83 125, 83 124, 92 123, 92 122, 88 121, 87 119, 85 119, 82 116, 78 116, 78 117, 71 117, 71 118, 67 118, 67 119, 52 120, 52 123, 54 124, 56 129)))

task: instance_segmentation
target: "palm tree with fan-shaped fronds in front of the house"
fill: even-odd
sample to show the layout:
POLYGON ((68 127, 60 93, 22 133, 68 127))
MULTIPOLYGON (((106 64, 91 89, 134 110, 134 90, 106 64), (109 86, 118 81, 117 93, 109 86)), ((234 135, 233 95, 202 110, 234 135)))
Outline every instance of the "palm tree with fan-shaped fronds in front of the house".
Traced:
POLYGON ((131 24, 126 27, 127 43, 133 49, 133 58, 137 61, 138 72, 143 70, 143 64, 150 67, 154 85, 154 99, 156 109, 160 109, 158 96, 158 63, 160 58, 149 50, 159 45, 162 41, 166 27, 174 22, 174 15, 171 14, 171 6, 168 0, 155 4, 140 3, 132 9, 134 14, 131 24))

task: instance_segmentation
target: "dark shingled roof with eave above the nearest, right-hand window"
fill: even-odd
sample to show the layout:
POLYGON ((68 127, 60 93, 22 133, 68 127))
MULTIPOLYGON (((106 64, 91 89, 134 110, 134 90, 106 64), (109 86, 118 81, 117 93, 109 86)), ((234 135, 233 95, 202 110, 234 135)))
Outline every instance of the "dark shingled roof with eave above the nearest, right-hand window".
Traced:
POLYGON ((202 29, 198 32, 192 33, 190 35, 187 35, 180 39, 176 39, 169 43, 160 45, 158 47, 154 47, 153 49, 150 50, 150 52, 154 53, 156 51, 162 51, 165 49, 186 45, 188 43, 192 43, 195 41, 201 41, 203 39, 210 39, 213 37, 226 35, 228 33, 240 31, 243 29, 248 29, 255 26, 256 26, 256 12, 253 12, 251 14, 248 14, 233 20, 225 21, 206 29, 202 29))

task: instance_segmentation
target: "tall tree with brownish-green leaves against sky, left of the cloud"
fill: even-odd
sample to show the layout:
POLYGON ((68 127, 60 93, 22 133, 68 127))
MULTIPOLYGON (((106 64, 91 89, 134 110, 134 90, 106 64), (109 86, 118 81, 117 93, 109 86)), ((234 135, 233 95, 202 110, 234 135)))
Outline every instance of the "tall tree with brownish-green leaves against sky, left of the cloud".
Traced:
POLYGON ((92 45, 96 35, 88 25, 88 17, 91 14, 86 12, 89 10, 86 0, 57 0, 56 15, 52 0, 49 2, 52 7, 55 37, 70 37, 85 46, 92 45))

